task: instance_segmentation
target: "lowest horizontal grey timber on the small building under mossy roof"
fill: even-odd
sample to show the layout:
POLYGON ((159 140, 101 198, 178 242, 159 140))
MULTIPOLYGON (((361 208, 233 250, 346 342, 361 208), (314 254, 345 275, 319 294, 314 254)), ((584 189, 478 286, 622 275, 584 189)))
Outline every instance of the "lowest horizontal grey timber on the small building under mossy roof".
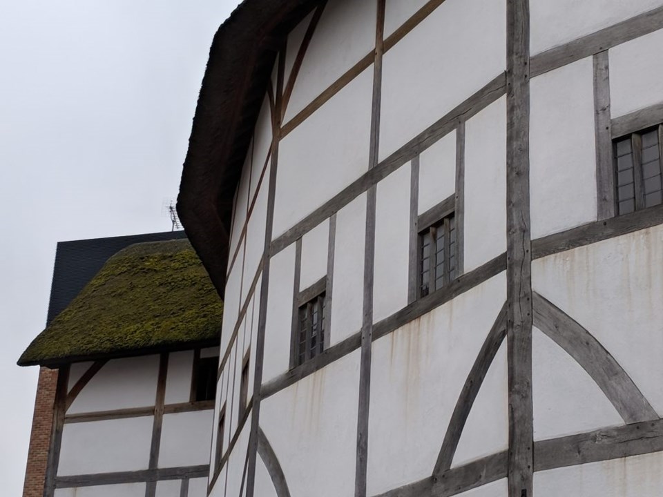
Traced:
POLYGON ((95 473, 74 476, 58 476, 56 488, 93 487, 116 485, 118 483, 157 482, 160 480, 182 480, 182 478, 204 478, 209 473, 209 465, 182 466, 141 471, 118 471, 115 473, 95 473))

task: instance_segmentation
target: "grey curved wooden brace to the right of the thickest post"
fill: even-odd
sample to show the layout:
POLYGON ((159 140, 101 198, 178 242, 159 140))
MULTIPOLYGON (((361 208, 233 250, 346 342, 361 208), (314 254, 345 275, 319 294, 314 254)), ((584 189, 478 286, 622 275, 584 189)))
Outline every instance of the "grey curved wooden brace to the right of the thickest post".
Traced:
POLYGON ((589 373, 626 424, 659 418, 626 371, 589 331, 538 293, 533 298, 535 327, 589 373))

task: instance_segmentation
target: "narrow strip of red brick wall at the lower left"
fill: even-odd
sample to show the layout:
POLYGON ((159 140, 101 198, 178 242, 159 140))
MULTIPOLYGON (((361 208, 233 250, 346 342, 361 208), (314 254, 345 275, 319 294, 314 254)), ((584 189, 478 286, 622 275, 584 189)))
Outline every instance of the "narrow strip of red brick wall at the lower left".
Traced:
POLYGON ((46 478, 46 462, 50 445, 50 431, 53 422, 53 405, 57 387, 57 369, 39 369, 35 413, 32 415, 32 433, 28 449, 26 480, 23 483, 23 497, 42 497, 46 478))

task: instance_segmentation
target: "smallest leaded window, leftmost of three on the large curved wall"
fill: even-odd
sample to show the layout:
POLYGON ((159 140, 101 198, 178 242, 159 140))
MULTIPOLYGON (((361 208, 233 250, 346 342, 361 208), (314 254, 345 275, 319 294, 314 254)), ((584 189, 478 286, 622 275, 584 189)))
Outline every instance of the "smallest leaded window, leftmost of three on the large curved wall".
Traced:
POLYGON ((299 307, 296 331, 294 365, 299 366, 325 350, 325 292, 299 307))

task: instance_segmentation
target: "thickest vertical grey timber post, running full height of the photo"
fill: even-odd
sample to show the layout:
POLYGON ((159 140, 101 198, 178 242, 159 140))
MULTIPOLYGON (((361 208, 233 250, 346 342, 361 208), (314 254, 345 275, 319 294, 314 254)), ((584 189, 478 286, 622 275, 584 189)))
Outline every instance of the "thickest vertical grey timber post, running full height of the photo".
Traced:
POLYGON ((509 497, 532 497, 532 251, 529 0, 507 1, 507 344, 509 497))

